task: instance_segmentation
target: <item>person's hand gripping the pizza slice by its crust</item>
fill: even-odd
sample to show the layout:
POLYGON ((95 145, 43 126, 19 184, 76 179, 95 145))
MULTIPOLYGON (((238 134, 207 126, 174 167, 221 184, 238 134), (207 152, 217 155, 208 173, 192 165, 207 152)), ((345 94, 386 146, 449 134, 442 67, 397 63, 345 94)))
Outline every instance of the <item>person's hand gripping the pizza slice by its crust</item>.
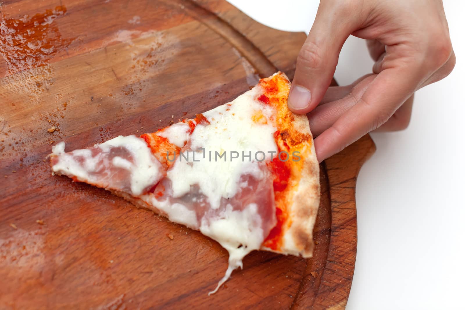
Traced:
POLYGON ((441 0, 321 0, 297 59, 288 106, 307 114, 321 162, 367 132, 405 129, 413 93, 444 79, 454 66, 441 0), (366 39, 373 73, 328 87, 349 35, 366 39))

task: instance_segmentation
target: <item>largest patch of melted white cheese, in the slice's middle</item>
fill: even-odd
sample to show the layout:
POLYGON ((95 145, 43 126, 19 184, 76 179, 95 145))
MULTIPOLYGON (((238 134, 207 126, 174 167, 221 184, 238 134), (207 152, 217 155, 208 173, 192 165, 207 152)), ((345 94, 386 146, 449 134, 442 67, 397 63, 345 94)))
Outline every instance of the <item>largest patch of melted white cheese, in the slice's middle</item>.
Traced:
POLYGON ((196 151, 195 157, 192 158, 192 151, 187 153, 189 160, 179 156, 167 171, 174 197, 183 196, 191 186, 199 185, 200 192, 216 209, 222 197, 231 198, 236 194, 241 175, 250 173, 262 177, 255 155, 259 160, 263 157, 268 160, 270 152, 277 152, 273 138, 276 128, 271 121, 266 124, 252 121, 253 115, 259 111, 268 118, 273 113, 271 107, 264 108, 255 100, 257 95, 258 89, 254 88, 230 105, 218 106, 204 113, 210 124, 200 123, 190 135, 189 142, 191 149, 196 151), (226 154, 219 158, 223 152, 226 154), (231 152, 237 152, 239 158, 231 158, 231 152), (251 158, 243 158, 243 152, 246 156, 250 154, 251 158), (263 155, 257 152, 263 152, 263 155))

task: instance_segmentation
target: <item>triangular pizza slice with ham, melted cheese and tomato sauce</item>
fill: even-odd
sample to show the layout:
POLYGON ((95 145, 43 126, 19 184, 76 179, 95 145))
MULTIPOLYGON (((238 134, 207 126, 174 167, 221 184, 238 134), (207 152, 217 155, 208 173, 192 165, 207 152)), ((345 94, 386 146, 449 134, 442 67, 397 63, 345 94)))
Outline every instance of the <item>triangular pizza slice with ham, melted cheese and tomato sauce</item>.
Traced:
POLYGON ((216 292, 253 250, 312 256, 319 164, 306 116, 287 108, 289 87, 275 73, 230 103, 154 133, 72 152, 60 142, 53 173, 219 242, 229 265, 216 292))

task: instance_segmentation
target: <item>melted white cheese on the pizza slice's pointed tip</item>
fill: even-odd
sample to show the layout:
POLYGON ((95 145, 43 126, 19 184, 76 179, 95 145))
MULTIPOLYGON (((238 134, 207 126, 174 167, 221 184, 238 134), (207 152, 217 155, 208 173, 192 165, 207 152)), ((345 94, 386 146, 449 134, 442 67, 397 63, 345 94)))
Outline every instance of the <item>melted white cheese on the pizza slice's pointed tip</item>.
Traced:
MULTIPOLYGON (((93 155, 91 149, 65 153, 65 144, 60 142, 52 148, 52 153, 58 156, 58 161, 52 166, 52 170, 60 174, 75 176, 79 181, 99 184, 102 181, 102 174, 98 171, 102 165, 106 168, 111 166, 122 168, 129 171, 129 185, 134 196, 139 196, 148 186, 156 184, 163 177, 161 165, 144 139, 134 135, 118 136, 97 144, 95 147, 101 151, 97 155, 93 155), (110 152, 118 147, 129 152, 132 161, 114 156, 110 162, 110 152)), ((111 184, 112 179, 109 178, 106 181, 111 184)))

